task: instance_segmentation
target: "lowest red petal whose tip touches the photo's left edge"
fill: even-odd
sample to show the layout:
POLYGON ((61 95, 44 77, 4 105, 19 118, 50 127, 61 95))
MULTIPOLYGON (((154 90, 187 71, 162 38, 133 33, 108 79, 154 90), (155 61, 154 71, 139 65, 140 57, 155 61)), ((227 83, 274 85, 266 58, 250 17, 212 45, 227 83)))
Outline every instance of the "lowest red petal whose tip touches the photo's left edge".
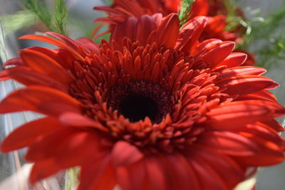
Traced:
POLYGON ((1 144, 1 152, 10 152, 15 149, 28 147, 44 135, 56 132, 63 127, 64 126, 53 117, 28 122, 16 128, 16 130, 11 132, 11 134, 4 139, 1 144))

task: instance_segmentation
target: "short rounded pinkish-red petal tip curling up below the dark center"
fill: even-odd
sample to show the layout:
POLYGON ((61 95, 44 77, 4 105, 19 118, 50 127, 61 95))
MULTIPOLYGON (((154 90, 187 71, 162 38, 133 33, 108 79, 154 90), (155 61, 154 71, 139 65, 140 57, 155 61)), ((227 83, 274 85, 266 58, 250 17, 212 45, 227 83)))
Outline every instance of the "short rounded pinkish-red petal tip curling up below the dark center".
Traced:
POLYGON ((119 141, 112 150, 112 162, 115 167, 133 164, 142 158, 142 152, 128 142, 119 141))

